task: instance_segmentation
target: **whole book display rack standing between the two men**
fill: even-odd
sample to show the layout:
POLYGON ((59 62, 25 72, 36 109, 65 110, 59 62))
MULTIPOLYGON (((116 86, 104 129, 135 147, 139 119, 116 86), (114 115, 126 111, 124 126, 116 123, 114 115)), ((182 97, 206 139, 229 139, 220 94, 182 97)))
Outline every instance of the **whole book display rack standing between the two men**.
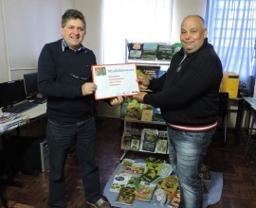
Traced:
MULTIPOLYGON (((125 40, 125 61, 137 64, 137 75, 158 78, 164 74, 174 55, 171 43, 137 43, 125 40)), ((166 123, 160 110, 127 97, 121 106, 123 120, 120 161, 128 151, 168 154, 166 123)))

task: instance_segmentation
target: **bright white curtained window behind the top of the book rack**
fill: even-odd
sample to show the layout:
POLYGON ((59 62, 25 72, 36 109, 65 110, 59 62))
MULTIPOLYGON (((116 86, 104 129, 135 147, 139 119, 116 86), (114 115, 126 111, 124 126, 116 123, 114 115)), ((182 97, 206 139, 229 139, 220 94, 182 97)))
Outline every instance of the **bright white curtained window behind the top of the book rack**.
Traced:
POLYGON ((104 0, 103 62, 125 61, 125 40, 171 42, 174 0, 104 0))

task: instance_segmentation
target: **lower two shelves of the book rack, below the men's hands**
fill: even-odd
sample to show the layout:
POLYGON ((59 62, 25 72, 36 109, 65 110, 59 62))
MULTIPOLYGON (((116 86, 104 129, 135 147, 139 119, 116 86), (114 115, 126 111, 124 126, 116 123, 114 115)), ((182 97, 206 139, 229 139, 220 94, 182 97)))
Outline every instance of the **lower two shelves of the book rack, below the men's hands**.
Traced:
POLYGON ((127 97, 120 118, 123 120, 121 149, 124 151, 120 161, 131 150, 168 154, 166 123, 159 109, 127 97))

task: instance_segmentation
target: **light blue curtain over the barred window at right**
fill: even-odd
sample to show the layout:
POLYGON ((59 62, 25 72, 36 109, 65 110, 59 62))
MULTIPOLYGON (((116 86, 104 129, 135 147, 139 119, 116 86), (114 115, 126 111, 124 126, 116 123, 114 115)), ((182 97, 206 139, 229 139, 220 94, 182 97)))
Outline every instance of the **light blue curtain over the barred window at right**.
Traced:
POLYGON ((207 0, 208 38, 219 55, 224 71, 253 75, 256 38, 256 0, 207 0))

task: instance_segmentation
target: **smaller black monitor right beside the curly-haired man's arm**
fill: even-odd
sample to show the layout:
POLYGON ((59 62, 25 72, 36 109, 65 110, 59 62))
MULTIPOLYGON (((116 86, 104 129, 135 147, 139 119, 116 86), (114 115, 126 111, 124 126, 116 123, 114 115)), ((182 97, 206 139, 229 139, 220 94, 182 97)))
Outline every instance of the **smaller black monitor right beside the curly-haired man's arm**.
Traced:
POLYGON ((23 77, 27 97, 36 96, 38 94, 37 73, 24 74, 23 77))

